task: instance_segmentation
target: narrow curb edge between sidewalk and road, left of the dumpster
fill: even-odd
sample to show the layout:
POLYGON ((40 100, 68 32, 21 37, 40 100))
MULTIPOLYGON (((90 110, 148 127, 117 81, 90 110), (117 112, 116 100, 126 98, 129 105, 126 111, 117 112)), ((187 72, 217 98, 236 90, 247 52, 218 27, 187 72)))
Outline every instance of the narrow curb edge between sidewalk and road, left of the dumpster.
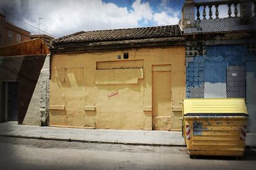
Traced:
POLYGON ((131 142, 107 142, 100 140, 83 140, 83 139, 72 139, 65 137, 46 137, 46 136, 20 136, 20 135, 8 135, 8 134, 0 134, 2 137, 15 137, 15 138, 23 138, 23 139, 39 139, 39 140, 55 140, 55 141, 66 141, 66 142, 81 142, 81 143, 92 143, 92 144, 119 144, 119 145, 142 145, 142 146, 154 146, 154 147, 186 147, 185 144, 148 144, 148 143, 131 143, 131 142))

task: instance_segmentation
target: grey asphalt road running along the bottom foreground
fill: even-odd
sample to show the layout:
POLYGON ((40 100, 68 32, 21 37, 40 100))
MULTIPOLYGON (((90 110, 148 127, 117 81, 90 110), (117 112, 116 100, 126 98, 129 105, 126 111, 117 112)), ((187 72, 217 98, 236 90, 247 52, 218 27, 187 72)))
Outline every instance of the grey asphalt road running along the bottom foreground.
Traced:
POLYGON ((0 137, 0 169, 255 169, 256 149, 242 160, 189 158, 185 147, 88 144, 0 137))

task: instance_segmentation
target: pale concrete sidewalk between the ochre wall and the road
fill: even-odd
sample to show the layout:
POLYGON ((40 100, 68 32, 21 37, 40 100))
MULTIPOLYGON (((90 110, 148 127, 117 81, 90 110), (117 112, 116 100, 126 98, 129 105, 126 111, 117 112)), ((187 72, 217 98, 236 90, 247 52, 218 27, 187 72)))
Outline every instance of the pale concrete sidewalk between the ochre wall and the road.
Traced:
MULTIPOLYGON (((181 132, 28 126, 18 125, 15 121, 1 123, 0 136, 101 144, 185 146, 181 132)), ((256 133, 247 133, 246 145, 256 147, 256 133)))

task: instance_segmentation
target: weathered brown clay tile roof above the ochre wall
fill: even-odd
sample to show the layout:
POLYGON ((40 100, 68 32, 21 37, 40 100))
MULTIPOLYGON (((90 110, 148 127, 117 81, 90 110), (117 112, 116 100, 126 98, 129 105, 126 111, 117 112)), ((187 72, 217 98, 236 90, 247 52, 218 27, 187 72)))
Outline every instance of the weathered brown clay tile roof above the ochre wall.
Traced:
POLYGON ((127 28, 117 30, 80 31, 54 39, 52 45, 80 42, 121 41, 130 39, 170 38, 182 36, 178 25, 127 28))

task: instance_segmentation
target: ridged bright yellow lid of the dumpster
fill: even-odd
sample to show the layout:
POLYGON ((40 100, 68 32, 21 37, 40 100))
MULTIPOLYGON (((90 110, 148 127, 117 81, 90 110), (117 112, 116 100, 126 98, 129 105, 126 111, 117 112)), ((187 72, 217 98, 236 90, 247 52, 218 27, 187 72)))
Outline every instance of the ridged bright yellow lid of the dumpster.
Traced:
MULTIPOLYGON (((244 99, 184 99, 183 113, 186 114, 247 114, 244 99)), ((238 116, 238 115, 237 115, 238 116)))

